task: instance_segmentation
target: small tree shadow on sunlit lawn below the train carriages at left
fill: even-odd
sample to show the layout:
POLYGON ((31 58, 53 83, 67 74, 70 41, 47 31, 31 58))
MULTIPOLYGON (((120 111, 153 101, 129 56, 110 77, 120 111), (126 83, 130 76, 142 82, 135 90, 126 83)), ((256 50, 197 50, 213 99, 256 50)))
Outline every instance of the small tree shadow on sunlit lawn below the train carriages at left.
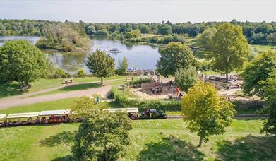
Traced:
POLYGON ((56 134, 55 136, 45 138, 44 140, 37 143, 37 145, 47 147, 54 147, 56 145, 68 145, 70 143, 73 143, 75 135, 76 132, 64 131, 62 133, 56 134))

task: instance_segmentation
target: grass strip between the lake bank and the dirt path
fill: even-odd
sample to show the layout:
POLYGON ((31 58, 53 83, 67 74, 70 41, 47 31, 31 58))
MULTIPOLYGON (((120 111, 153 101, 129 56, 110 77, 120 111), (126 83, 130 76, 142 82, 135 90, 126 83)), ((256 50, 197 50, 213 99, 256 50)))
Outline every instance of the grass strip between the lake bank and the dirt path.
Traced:
MULTIPOLYGON (((123 81, 125 80, 126 76, 112 76, 109 78, 104 78, 104 81, 106 80, 114 80, 114 83, 116 81, 123 81), (119 80, 118 80, 119 79, 119 80)), ((136 78, 136 77, 135 77, 136 78)), ((69 78, 68 78, 69 79, 69 78)), ((20 92, 19 90, 19 85, 16 82, 12 83, 4 83, 0 84, 0 99, 3 97, 9 97, 13 95, 22 95, 24 93, 33 93, 36 91, 40 90, 46 90, 48 88, 55 88, 61 86, 64 82, 64 78, 59 78, 59 79, 40 79, 38 81, 32 82, 32 88, 28 92, 20 92)), ((91 83, 91 82, 96 82, 100 81, 100 78, 95 78, 95 77, 87 77, 87 78, 73 78, 73 83, 91 83)))

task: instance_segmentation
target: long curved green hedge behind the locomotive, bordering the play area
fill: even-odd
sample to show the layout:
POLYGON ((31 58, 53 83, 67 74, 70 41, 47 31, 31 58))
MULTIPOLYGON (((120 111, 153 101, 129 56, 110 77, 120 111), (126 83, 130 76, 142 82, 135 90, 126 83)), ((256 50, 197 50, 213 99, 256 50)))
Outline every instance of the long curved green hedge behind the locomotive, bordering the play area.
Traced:
POLYGON ((115 98, 115 101, 123 107, 137 107, 139 110, 163 109, 168 111, 179 111, 181 109, 181 104, 179 101, 132 99, 124 97, 121 93, 118 93, 118 88, 116 87, 112 88, 109 96, 115 98))

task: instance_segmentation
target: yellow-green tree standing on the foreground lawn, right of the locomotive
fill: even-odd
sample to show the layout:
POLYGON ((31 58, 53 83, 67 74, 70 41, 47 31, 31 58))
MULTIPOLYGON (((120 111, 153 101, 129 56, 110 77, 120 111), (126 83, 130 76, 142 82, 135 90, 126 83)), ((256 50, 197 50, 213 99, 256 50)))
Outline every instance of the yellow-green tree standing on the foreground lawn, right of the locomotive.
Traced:
POLYGON ((208 141, 209 136, 225 132, 234 117, 234 105, 219 96, 210 83, 198 82, 181 98, 184 121, 188 129, 200 137, 198 146, 208 141))

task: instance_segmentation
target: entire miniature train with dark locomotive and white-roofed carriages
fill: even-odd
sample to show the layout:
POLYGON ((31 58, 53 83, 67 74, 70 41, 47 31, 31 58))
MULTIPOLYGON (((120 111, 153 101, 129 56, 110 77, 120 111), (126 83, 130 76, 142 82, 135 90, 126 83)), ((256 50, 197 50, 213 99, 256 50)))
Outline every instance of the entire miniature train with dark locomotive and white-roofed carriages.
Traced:
MULTIPOLYGON (((138 114, 138 108, 104 109, 109 112, 122 111, 128 114, 130 119, 166 119, 167 114, 158 109, 147 109, 146 112, 138 114)), ((32 124, 54 124, 83 121, 78 114, 70 109, 49 110, 42 112, 28 112, 16 114, 0 114, 0 127, 19 126, 32 124)))

